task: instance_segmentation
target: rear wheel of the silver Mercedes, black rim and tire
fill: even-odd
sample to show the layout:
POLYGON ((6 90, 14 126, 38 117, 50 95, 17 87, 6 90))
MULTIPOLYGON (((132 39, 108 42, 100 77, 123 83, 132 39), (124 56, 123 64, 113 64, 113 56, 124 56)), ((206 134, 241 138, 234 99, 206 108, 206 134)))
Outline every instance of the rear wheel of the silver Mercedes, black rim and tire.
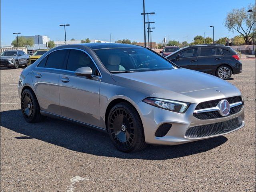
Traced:
POLYGON ((45 116, 40 114, 40 106, 32 90, 25 89, 22 92, 20 106, 26 122, 36 123, 45 119, 45 116))

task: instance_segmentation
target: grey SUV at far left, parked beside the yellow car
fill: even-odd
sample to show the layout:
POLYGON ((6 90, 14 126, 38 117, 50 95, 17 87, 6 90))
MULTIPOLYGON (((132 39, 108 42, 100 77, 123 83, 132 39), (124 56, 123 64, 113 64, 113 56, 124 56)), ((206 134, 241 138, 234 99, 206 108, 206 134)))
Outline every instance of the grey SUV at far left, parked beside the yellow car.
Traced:
POLYGON ((1 53, 1 67, 18 69, 19 66, 27 66, 28 54, 22 50, 4 51, 1 53))

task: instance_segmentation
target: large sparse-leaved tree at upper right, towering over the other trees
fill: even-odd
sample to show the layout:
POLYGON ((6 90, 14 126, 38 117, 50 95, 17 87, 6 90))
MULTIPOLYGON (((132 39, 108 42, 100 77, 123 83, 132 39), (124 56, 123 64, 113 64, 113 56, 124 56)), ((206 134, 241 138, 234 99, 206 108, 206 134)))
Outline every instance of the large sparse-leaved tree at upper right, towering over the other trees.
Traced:
POLYGON ((247 10, 252 9, 255 12, 255 4, 248 5, 248 8, 233 9, 229 12, 224 20, 225 27, 229 31, 237 31, 242 35, 246 44, 252 39, 249 36, 253 26, 253 13, 247 10))

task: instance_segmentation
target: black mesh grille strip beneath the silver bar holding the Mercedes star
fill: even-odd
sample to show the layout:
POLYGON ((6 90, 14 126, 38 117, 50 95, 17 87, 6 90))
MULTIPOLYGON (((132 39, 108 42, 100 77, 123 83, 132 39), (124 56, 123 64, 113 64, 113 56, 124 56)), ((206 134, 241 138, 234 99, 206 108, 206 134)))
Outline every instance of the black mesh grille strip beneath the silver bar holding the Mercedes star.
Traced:
MULTIPOLYGON (((227 116, 238 113, 242 109, 242 107, 243 105, 238 105, 230 108, 230 112, 227 116)), ((211 112, 203 112, 203 113, 194 113, 194 117, 201 120, 206 120, 206 119, 222 118, 224 116, 221 116, 221 114, 218 111, 211 111, 211 112)))

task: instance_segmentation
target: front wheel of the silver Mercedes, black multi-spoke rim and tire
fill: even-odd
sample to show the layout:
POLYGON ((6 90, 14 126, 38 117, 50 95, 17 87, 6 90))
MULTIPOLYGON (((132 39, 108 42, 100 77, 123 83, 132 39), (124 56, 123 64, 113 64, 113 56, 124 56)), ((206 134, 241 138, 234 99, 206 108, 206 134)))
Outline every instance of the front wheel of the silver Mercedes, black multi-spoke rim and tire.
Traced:
POLYGON ((122 152, 136 152, 147 146, 140 116, 126 102, 116 104, 110 110, 108 134, 114 146, 122 152))

